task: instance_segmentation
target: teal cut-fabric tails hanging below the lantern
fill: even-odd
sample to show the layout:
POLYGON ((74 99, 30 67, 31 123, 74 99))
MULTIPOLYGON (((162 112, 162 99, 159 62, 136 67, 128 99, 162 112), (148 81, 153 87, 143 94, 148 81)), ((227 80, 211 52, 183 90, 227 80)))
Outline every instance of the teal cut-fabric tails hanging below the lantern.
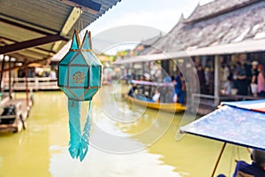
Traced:
POLYGON ((90 127, 91 127, 91 109, 92 101, 88 101, 88 115, 81 135, 80 128, 80 102, 68 100, 70 142, 69 152, 72 158, 79 158, 82 161, 88 151, 90 127))

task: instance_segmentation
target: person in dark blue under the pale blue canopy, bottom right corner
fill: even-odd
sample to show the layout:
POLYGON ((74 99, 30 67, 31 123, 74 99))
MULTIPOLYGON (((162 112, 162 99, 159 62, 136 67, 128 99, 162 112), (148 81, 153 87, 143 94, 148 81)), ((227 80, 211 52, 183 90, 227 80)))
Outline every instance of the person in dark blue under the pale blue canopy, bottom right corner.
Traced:
POLYGON ((265 151, 252 150, 252 164, 238 161, 233 177, 264 177, 265 176, 265 151))

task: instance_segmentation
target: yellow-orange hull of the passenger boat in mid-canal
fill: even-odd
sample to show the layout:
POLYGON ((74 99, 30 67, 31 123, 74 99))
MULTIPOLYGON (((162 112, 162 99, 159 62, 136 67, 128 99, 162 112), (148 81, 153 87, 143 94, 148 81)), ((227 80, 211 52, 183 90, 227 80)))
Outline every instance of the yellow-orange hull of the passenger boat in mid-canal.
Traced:
POLYGON ((186 110, 186 106, 179 104, 179 103, 170 103, 170 104, 164 104, 164 103, 153 103, 153 102, 147 102, 143 101, 137 98, 133 98, 132 96, 125 96, 126 99, 133 104, 138 104, 141 106, 146 106, 151 109, 163 111, 163 112, 184 112, 186 110))

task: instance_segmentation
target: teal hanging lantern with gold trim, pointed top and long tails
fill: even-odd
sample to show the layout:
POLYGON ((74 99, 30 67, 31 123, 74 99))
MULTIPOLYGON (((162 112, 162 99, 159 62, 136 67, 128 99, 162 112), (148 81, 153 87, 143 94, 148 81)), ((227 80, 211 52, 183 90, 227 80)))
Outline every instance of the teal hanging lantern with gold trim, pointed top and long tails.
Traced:
POLYGON ((75 30, 71 49, 58 64, 57 84, 68 97, 69 152, 72 158, 82 161, 89 145, 91 100, 102 84, 102 64, 92 50, 90 32, 86 32, 83 42, 80 43, 79 33, 75 30), (88 101, 88 115, 83 134, 79 113, 82 101, 88 101))

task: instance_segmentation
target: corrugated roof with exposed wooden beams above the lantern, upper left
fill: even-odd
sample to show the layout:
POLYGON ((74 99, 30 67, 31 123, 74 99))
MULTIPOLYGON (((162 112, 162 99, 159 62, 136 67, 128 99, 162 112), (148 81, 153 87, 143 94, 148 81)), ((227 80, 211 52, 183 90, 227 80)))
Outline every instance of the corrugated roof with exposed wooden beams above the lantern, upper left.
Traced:
POLYGON ((87 27, 119 1, 0 0, 0 54, 27 63, 51 58, 74 29, 87 27))

